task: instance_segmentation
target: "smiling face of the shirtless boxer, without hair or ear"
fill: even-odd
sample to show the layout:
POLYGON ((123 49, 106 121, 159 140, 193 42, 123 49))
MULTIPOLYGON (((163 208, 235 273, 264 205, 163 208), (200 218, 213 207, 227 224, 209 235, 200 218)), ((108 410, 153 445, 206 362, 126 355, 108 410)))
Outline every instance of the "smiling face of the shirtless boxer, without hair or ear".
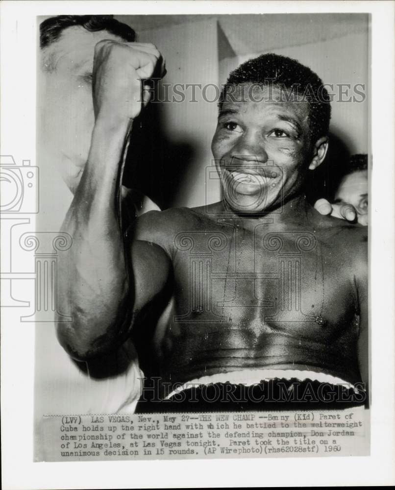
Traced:
POLYGON ((252 97, 239 101, 242 91, 223 103, 211 148, 227 204, 256 213, 300 190, 311 155, 309 106, 280 101, 276 87, 244 87, 252 97))

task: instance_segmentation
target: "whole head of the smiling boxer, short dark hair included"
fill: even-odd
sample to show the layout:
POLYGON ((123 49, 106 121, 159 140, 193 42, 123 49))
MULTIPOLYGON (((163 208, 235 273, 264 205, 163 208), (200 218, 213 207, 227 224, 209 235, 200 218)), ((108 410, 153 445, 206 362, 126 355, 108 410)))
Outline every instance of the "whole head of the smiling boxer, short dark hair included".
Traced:
POLYGON ((325 157, 330 113, 321 78, 296 60, 262 54, 230 73, 212 142, 225 203, 251 214, 300 194, 325 157))

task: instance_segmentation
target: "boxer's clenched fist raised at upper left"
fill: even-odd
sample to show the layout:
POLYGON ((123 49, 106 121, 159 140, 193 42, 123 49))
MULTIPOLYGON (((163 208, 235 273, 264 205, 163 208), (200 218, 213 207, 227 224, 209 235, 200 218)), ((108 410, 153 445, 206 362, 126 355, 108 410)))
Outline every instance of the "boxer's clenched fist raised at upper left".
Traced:
POLYGON ((102 40, 95 46, 93 106, 95 120, 110 124, 135 119, 150 98, 145 83, 165 73, 160 52, 152 44, 102 40))

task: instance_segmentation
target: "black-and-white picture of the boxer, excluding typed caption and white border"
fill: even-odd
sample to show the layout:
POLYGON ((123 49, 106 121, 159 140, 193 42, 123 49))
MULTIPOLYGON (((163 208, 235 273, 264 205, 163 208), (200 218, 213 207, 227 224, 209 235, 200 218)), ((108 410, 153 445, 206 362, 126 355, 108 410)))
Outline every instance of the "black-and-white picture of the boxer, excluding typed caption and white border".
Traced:
POLYGON ((297 380, 289 407, 314 382, 368 404, 368 15, 142 22, 40 22, 38 151, 71 201, 57 341, 79 381, 75 401, 38 326, 37 403, 64 409, 67 384, 83 413, 265 410, 297 380))

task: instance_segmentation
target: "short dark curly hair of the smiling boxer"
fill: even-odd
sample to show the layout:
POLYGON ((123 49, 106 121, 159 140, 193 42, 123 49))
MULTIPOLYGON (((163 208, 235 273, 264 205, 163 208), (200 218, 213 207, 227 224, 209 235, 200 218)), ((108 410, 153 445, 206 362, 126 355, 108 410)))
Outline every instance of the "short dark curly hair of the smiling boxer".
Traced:
POLYGON ((312 138, 316 141, 328 134, 330 97, 321 78, 310 68, 294 59, 274 53, 261 54, 250 59, 229 74, 222 90, 220 109, 229 87, 246 83, 278 86, 282 97, 286 97, 284 100, 290 100, 289 91, 293 96, 301 96, 310 104, 312 138))

